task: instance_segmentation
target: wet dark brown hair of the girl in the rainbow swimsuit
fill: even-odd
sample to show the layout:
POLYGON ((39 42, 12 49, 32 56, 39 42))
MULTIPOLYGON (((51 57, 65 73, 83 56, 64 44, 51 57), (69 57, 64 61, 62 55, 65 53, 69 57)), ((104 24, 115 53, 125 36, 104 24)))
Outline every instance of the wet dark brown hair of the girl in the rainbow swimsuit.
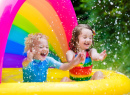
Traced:
MULTIPOLYGON (((93 29, 89 25, 87 25, 87 24, 79 24, 79 25, 77 25, 72 31, 72 38, 71 38, 71 40, 69 42, 70 49, 73 50, 73 52, 75 52, 75 53, 77 52, 77 48, 76 48, 77 44, 76 44, 76 42, 79 41, 78 36, 80 35, 82 29, 89 29, 94 34, 93 29)), ((94 45, 94 41, 92 41, 92 42, 93 42, 93 45, 94 45)))

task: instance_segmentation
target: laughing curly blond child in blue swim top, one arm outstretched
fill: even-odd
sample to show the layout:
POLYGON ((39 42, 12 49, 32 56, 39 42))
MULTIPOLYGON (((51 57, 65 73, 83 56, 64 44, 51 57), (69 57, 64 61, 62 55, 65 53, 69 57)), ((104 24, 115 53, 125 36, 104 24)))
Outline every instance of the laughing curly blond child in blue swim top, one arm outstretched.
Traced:
POLYGON ((25 40, 25 51, 27 51, 27 58, 22 63, 24 82, 45 82, 47 70, 50 66, 61 70, 69 70, 84 60, 82 52, 66 64, 48 57, 48 41, 46 36, 41 33, 28 35, 25 40))

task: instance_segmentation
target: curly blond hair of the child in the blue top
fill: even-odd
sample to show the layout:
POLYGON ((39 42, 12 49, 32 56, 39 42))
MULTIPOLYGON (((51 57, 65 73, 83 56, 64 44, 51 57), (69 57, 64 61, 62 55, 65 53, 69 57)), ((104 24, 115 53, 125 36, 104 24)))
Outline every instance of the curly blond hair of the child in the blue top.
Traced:
POLYGON ((41 38, 48 40, 48 37, 42 33, 29 34, 28 37, 25 38, 24 52, 27 52, 29 49, 34 47, 35 43, 37 43, 37 41, 40 41, 41 38))

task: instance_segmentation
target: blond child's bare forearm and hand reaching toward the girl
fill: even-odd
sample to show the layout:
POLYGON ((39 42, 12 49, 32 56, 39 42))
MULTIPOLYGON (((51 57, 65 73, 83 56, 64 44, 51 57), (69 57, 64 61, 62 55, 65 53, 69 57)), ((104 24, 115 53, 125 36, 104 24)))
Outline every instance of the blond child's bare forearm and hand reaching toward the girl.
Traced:
POLYGON ((69 61, 69 63, 62 64, 59 69, 61 69, 61 70, 70 70, 71 68, 73 68, 76 65, 78 65, 79 63, 81 63, 84 60, 85 55, 84 55, 83 52, 81 52, 76 57, 73 54, 72 54, 72 56, 70 56, 71 60, 69 61))

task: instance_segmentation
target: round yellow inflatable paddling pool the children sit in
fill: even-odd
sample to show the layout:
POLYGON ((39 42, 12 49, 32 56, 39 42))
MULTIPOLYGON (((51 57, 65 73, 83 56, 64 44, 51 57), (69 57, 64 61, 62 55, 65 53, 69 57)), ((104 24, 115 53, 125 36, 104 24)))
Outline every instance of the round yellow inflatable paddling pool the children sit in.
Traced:
MULTIPOLYGON (((99 71, 94 69, 95 71, 99 71)), ((130 79, 110 70, 100 70, 102 80, 59 82, 69 71, 50 68, 44 83, 22 83, 21 68, 4 68, 0 95, 129 95, 130 79)))

